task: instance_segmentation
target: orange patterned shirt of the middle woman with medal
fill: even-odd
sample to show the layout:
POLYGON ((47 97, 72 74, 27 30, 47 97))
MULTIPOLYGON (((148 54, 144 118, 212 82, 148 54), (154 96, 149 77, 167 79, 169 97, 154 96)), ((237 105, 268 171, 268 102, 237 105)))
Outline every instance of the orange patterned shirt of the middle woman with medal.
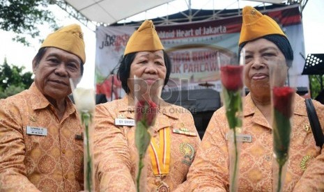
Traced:
MULTIPOLYGON (((100 104, 95 111, 95 171, 100 182, 100 191, 135 191, 135 173, 138 154, 134 145, 133 126, 116 126, 116 118, 134 119, 134 108, 128 106, 128 96, 106 104, 100 104)), ((159 141, 158 131, 164 127, 180 129, 185 127, 196 136, 171 133, 171 160, 169 175, 162 179, 171 190, 185 182, 200 138, 194 126, 192 115, 187 109, 162 102, 152 136, 159 141)), ((155 191, 160 177, 153 175, 151 159, 146 156, 147 191, 155 191)), ((145 174, 145 173, 144 173, 145 174)))

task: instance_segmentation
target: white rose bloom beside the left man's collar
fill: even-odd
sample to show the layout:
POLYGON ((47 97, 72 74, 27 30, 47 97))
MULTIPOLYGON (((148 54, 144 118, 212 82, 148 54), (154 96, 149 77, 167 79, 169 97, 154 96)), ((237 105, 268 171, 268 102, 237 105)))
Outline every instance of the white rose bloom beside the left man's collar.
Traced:
POLYGON ((95 110, 95 90, 91 88, 76 88, 73 90, 73 98, 75 99, 77 111, 93 112, 95 110))

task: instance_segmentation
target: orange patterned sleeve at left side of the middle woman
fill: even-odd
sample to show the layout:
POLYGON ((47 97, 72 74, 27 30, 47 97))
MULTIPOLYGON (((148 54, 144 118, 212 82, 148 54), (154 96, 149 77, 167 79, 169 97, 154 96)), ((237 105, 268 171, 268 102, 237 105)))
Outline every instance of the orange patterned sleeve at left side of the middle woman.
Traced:
POLYGON ((127 139, 103 105, 95 110, 93 151, 96 185, 100 191, 135 191, 127 139))

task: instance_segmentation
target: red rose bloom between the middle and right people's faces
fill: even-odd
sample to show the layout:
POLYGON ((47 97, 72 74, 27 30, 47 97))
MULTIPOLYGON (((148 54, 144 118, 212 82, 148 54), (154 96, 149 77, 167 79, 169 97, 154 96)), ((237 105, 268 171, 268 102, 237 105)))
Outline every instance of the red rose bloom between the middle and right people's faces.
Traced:
POLYGON ((223 86, 227 90, 239 90, 243 87, 243 67, 242 65, 226 65, 220 67, 220 78, 223 86))

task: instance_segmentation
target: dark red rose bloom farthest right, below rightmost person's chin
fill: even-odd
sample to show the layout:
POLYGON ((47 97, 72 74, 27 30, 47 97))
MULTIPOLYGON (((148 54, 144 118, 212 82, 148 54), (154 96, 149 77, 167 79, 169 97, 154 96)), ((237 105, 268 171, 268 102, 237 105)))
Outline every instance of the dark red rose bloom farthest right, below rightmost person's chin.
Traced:
POLYGON ((293 115, 294 95, 295 89, 290 87, 274 87, 272 89, 273 107, 286 118, 291 118, 291 115, 293 115))

